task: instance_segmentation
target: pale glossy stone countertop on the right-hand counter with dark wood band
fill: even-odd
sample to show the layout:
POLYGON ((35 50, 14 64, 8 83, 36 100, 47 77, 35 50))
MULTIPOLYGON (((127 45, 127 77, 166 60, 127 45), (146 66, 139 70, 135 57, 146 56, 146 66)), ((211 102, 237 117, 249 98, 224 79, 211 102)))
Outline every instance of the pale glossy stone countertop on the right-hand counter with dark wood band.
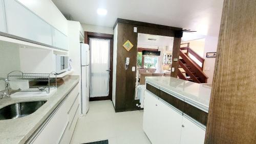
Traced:
POLYGON ((211 93, 209 84, 199 84, 173 77, 146 77, 146 82, 184 98, 185 102, 205 112, 209 110, 211 93))

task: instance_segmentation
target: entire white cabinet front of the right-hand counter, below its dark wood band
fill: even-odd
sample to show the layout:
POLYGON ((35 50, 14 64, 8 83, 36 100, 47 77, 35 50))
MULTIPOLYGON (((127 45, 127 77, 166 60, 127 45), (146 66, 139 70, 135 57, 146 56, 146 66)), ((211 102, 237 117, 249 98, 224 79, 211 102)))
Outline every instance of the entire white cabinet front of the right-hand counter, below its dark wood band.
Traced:
POLYGON ((153 144, 204 143, 203 128, 147 90, 144 97, 143 130, 153 144))

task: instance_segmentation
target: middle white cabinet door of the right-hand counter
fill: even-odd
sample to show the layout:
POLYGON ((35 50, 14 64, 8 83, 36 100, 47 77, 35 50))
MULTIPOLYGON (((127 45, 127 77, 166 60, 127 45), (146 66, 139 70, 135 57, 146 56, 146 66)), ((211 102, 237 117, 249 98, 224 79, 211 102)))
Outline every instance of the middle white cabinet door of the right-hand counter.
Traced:
POLYGON ((159 127, 157 143, 180 143, 182 112, 160 99, 158 113, 159 127))

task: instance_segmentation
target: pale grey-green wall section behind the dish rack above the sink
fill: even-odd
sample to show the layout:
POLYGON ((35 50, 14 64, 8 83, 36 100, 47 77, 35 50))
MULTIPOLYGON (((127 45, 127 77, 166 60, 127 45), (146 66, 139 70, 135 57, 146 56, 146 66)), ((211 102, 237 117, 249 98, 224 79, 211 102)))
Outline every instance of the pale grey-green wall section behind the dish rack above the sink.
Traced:
MULTIPOLYGON (((20 70, 18 44, 0 41, 0 77, 7 78, 13 70, 20 70)), ((5 89, 4 81, 0 81, 0 90, 5 89)))

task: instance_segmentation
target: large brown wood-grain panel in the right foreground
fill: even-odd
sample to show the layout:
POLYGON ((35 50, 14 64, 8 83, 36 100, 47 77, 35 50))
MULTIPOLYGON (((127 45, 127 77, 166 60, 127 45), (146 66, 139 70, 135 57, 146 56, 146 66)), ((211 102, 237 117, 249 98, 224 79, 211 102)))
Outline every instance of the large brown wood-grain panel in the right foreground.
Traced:
POLYGON ((225 0, 205 143, 256 142, 256 1, 225 0))

